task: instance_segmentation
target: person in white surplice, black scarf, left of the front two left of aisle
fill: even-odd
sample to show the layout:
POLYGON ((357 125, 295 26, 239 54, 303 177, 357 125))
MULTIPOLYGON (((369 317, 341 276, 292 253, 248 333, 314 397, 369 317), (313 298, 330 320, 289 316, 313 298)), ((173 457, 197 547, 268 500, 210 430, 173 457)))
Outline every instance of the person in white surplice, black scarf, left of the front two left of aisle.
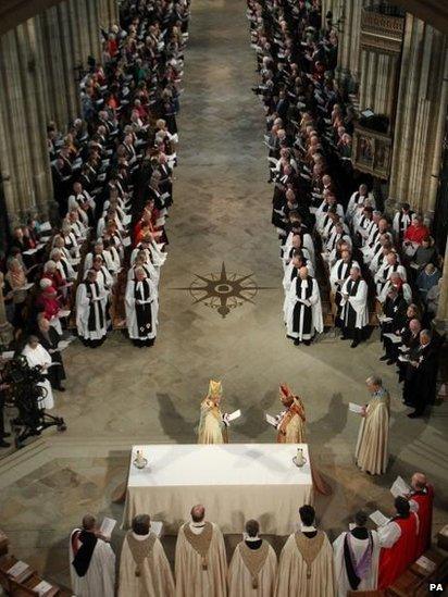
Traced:
POLYGON ((105 306, 108 296, 97 282, 97 272, 89 270, 87 279, 76 290, 76 327, 86 346, 100 346, 107 334, 105 306))

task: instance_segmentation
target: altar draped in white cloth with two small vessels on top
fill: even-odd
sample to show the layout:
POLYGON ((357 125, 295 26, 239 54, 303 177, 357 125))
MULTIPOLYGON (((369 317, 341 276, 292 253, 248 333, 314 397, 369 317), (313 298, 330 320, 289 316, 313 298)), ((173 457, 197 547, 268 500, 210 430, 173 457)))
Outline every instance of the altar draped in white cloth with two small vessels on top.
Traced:
POLYGON ((299 508, 312 503, 312 480, 307 444, 158 444, 134 446, 123 526, 136 514, 163 521, 174 534, 189 520, 196 503, 224 533, 241 533, 248 519, 261 532, 287 535, 297 527, 299 508), (302 448, 306 463, 293 462, 302 448), (137 469, 140 450, 148 463, 137 469))

